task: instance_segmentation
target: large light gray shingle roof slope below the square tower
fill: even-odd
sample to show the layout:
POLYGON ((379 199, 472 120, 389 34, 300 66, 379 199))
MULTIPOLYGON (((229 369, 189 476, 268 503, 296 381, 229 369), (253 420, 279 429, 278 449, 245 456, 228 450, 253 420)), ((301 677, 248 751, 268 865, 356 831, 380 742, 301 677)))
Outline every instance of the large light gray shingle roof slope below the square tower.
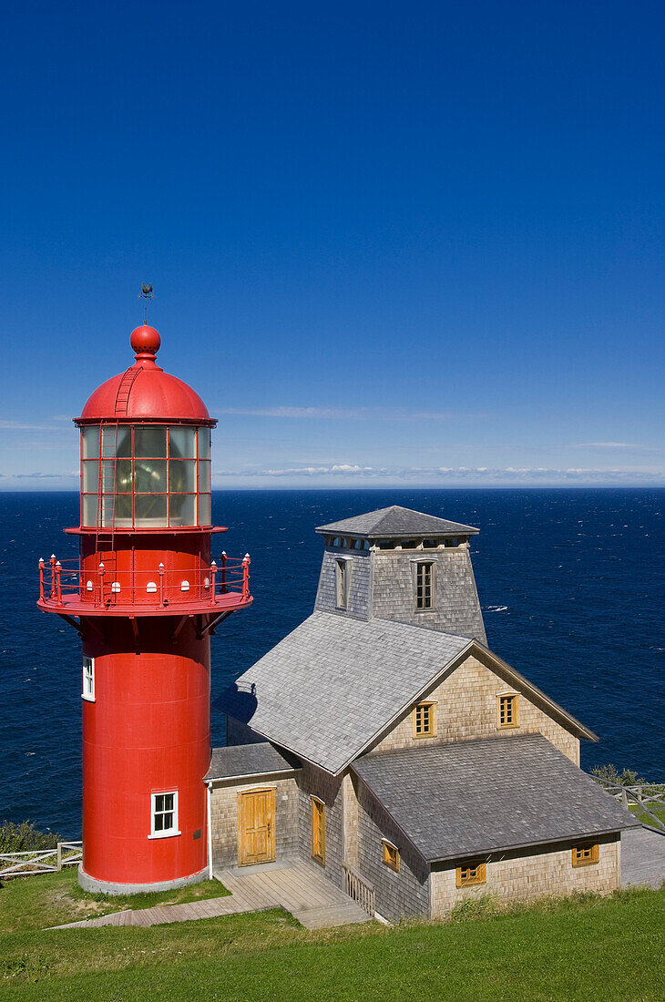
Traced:
POLYGON ((407 623, 314 612, 215 706, 337 775, 471 642, 407 623))

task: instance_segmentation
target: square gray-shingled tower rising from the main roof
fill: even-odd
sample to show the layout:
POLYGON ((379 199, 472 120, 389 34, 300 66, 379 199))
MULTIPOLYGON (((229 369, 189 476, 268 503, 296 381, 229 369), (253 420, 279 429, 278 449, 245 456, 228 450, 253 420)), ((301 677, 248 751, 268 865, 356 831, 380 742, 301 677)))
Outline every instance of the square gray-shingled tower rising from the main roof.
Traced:
POLYGON ((400 505, 318 526, 325 551, 315 608, 486 643, 469 551, 478 531, 400 505))

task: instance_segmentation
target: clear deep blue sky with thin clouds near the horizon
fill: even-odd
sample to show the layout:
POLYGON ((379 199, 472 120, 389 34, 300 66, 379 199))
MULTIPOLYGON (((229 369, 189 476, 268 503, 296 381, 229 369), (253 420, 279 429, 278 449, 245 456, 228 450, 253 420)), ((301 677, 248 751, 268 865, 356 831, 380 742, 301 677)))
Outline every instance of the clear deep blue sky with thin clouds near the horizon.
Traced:
POLYGON ((0 489, 159 360, 217 487, 665 483, 665 9, 24 3, 0 72, 0 489))

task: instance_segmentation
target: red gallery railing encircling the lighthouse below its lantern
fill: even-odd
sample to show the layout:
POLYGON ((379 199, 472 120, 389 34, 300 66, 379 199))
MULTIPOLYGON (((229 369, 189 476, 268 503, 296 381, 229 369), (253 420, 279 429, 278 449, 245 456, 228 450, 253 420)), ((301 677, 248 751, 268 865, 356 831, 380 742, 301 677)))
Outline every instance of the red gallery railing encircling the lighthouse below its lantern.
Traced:
POLYGON ((39 601, 49 608, 81 604, 97 608, 207 603, 215 606, 221 596, 248 602, 249 554, 227 557, 209 567, 167 571, 163 563, 148 570, 123 571, 114 566, 114 555, 100 561, 94 571, 82 568, 78 559, 39 561, 39 601))

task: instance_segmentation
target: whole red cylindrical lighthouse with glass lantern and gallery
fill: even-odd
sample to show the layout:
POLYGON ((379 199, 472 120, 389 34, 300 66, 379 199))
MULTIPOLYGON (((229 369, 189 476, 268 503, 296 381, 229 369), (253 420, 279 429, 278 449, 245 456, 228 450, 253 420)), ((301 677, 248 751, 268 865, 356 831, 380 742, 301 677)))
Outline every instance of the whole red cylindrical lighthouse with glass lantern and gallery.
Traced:
POLYGON ((211 560, 216 422, 159 345, 137 328, 134 364, 75 419, 79 557, 39 564, 39 607, 83 642, 79 880, 111 893, 206 876, 210 634, 251 602, 249 557, 211 560))

